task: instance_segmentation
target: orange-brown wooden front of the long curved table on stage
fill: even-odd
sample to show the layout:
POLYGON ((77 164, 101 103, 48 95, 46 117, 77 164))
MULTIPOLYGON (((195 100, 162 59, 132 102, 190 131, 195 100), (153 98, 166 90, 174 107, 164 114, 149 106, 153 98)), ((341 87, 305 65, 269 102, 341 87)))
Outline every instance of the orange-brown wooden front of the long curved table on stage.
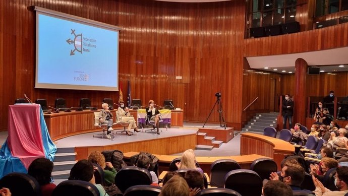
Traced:
MULTIPOLYGON (((63 112, 60 113, 51 113, 44 114, 44 118, 46 121, 46 125, 48 128, 49 135, 53 141, 83 134, 96 132, 100 130, 94 126, 94 113, 99 112, 100 110, 91 111, 91 110, 83 110, 83 111, 71 111, 71 112, 63 112)), ((116 117, 116 111, 113 110, 113 117, 116 117)), ((131 115, 135 117, 135 120, 138 118, 138 110, 130 110, 131 115)), ((171 110, 170 115, 170 123, 171 126, 183 126, 184 121, 184 111, 183 110, 171 110)), ((121 125, 115 125, 114 128, 122 128, 121 125)))

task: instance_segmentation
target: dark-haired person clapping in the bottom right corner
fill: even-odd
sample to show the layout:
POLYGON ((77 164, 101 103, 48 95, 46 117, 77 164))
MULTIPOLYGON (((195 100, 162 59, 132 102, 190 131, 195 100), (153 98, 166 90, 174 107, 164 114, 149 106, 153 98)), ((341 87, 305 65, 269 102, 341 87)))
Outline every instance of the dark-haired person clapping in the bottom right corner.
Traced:
POLYGON ((348 193, 348 167, 338 167, 335 174, 335 186, 338 190, 332 191, 326 187, 317 179, 312 176, 313 183, 315 185, 314 193, 316 196, 343 196, 348 193))

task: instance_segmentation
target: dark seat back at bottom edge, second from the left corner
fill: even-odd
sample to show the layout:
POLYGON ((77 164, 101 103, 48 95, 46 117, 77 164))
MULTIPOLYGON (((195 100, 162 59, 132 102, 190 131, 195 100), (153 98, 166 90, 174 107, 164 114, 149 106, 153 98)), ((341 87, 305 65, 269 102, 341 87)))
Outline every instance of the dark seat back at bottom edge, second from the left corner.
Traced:
POLYGON ((52 196, 99 196, 99 190, 93 184, 82 180, 66 180, 59 183, 52 196))

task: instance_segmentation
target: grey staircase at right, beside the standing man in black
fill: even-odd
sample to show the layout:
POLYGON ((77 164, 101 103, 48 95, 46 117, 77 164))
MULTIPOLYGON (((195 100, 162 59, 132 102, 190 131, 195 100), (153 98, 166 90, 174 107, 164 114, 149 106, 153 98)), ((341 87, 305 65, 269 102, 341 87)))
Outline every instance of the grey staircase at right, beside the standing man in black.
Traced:
POLYGON ((263 129, 267 126, 277 128, 277 117, 279 113, 257 113, 250 121, 242 128, 242 131, 263 133, 263 129))

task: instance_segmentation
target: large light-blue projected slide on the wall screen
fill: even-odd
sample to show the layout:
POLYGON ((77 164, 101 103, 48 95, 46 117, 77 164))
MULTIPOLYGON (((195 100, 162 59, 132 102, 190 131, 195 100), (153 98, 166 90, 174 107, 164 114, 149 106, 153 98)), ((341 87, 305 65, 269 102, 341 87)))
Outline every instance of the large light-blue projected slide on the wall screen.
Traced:
POLYGON ((118 30, 38 13, 36 38, 36 88, 118 90, 118 30))

